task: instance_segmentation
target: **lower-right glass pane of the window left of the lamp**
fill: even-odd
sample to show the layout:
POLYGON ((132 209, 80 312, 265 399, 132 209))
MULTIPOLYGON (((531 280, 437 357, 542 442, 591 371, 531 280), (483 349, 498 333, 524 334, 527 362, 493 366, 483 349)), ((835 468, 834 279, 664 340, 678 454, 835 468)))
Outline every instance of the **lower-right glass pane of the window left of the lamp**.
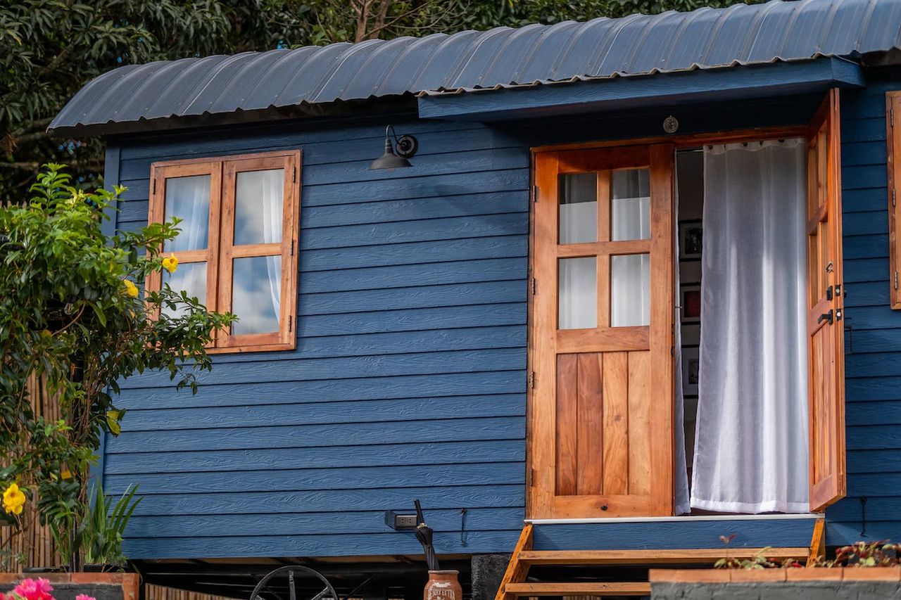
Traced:
POLYGON ((281 257, 234 259, 232 313, 238 321, 232 335, 278 332, 281 308, 281 257))

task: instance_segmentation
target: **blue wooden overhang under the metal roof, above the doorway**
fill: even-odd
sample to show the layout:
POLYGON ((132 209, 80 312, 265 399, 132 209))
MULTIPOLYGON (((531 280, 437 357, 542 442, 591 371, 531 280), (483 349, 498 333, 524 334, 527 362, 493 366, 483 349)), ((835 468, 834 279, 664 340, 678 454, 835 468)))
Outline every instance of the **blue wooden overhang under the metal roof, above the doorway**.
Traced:
POLYGON ((865 85, 860 65, 821 58, 748 67, 608 77, 578 83, 421 95, 419 116, 510 121, 694 102, 748 100, 865 85))

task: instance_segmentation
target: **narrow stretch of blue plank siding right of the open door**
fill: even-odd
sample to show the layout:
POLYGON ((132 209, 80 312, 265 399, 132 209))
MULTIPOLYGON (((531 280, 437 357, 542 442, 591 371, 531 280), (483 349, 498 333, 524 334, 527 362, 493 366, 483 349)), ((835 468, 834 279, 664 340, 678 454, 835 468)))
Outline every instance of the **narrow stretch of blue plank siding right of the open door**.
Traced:
POLYGON ((841 99, 848 495, 826 511, 829 544, 901 541, 901 312, 888 307, 885 94, 893 89, 901 80, 871 81, 841 99))

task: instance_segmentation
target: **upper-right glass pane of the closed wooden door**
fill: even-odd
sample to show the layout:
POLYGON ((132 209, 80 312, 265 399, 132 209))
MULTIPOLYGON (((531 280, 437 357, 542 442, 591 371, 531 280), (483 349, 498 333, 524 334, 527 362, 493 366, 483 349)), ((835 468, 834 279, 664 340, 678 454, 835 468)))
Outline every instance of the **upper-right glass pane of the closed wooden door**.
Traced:
POLYGON ((651 173, 647 168, 614 171, 610 177, 611 240, 651 237, 651 173))

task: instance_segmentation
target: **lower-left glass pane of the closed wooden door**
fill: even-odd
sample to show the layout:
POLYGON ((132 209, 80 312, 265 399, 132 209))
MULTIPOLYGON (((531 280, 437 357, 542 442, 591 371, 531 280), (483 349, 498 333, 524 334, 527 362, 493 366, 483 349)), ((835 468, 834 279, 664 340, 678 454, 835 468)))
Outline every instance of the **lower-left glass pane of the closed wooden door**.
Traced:
POLYGON ((597 259, 560 259, 560 329, 597 327, 597 259))

